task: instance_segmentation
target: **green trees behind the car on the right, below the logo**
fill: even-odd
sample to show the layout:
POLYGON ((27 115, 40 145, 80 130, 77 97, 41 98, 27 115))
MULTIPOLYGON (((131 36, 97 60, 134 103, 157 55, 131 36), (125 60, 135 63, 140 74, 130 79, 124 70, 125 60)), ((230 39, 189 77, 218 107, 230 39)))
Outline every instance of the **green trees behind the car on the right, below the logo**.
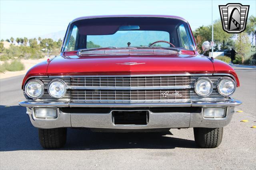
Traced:
MULTIPOLYGON (((244 63, 246 54, 250 53, 253 40, 256 40, 256 17, 250 16, 247 20, 246 30, 240 34, 230 34, 223 30, 221 20, 216 20, 214 28, 214 51, 220 49, 235 49, 237 52, 235 63, 244 63)), ((202 53, 201 45, 205 41, 212 40, 212 25, 200 26, 194 32, 194 37, 198 45, 198 51, 202 53)), ((206 53, 207 55, 208 53, 206 53)), ((256 60, 255 55, 248 60, 256 60)))

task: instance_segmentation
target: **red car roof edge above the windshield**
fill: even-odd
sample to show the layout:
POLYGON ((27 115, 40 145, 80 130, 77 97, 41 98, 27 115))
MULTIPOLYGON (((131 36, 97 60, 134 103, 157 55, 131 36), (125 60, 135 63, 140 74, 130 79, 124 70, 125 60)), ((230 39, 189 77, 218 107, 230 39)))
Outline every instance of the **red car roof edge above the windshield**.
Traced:
POLYGON ((75 18, 70 23, 76 22, 78 20, 86 20, 86 19, 93 19, 93 18, 122 18, 122 17, 153 17, 153 18, 174 18, 178 20, 182 20, 187 22, 184 18, 179 16, 172 16, 172 15, 102 15, 102 16, 82 16, 75 18))

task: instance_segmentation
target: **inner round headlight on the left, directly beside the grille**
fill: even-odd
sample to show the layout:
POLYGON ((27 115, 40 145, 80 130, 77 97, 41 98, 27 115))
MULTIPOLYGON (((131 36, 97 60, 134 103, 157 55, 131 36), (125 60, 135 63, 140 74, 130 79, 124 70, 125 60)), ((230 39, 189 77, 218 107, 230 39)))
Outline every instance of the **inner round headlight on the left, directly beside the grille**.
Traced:
POLYGON ((48 92, 54 98, 61 98, 66 94, 66 83, 61 79, 53 79, 48 85, 48 92))

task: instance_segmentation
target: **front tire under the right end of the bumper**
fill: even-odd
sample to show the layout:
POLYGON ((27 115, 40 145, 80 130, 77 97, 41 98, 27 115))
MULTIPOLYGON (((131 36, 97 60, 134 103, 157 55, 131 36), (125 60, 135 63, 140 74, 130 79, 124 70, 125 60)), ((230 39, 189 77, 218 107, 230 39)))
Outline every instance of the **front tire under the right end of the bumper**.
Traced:
POLYGON ((194 128, 194 138, 200 148, 216 148, 222 141, 222 128, 194 128))

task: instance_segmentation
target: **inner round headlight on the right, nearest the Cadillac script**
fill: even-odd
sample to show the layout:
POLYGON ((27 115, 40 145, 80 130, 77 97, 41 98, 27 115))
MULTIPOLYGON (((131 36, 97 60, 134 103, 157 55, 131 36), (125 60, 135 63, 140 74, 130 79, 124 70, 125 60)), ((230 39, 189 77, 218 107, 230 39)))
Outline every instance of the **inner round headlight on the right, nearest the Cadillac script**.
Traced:
POLYGON ((208 96, 212 93, 212 81, 207 77, 200 77, 195 83, 195 91, 200 96, 208 96))

